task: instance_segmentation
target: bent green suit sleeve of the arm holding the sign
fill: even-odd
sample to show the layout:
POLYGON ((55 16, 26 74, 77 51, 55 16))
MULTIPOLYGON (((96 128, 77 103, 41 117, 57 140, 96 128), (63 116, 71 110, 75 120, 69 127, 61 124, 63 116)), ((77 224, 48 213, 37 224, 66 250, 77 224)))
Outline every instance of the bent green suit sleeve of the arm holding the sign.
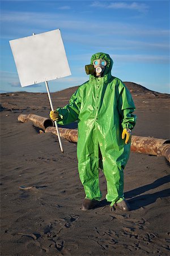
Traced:
POLYGON ((57 109, 59 113, 57 123, 59 125, 67 125, 68 123, 76 121, 79 117, 80 106, 80 94, 79 91, 76 90, 76 92, 71 96, 69 104, 63 108, 57 109))

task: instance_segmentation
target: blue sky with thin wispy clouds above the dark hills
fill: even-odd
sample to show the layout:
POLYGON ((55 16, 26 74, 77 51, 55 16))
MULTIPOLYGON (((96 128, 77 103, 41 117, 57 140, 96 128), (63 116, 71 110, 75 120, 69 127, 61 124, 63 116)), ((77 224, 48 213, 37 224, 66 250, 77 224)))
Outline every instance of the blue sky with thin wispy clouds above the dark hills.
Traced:
POLYGON ((22 88, 9 40, 59 28, 72 75, 49 81, 51 92, 88 80, 91 55, 108 53, 112 75, 170 93, 169 1, 2 1, 1 92, 46 92, 45 84, 22 88))

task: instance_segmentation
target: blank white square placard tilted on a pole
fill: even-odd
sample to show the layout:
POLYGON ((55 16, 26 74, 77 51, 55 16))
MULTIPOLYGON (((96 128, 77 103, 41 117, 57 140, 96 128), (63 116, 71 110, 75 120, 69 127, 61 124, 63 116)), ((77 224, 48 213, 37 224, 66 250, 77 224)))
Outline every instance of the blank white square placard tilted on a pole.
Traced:
POLYGON ((11 40, 10 46, 22 87, 71 75, 59 30, 11 40))

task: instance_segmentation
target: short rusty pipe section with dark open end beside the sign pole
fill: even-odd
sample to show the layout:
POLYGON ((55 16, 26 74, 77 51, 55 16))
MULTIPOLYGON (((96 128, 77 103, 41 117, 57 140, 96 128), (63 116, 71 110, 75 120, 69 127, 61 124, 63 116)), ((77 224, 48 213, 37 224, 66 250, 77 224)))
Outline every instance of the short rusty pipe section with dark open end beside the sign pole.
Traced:
POLYGON ((40 127, 43 130, 45 130, 49 126, 53 126, 52 120, 45 117, 40 117, 40 115, 35 115, 35 114, 28 114, 28 115, 21 114, 18 117, 18 121, 23 123, 31 121, 35 126, 40 127))

